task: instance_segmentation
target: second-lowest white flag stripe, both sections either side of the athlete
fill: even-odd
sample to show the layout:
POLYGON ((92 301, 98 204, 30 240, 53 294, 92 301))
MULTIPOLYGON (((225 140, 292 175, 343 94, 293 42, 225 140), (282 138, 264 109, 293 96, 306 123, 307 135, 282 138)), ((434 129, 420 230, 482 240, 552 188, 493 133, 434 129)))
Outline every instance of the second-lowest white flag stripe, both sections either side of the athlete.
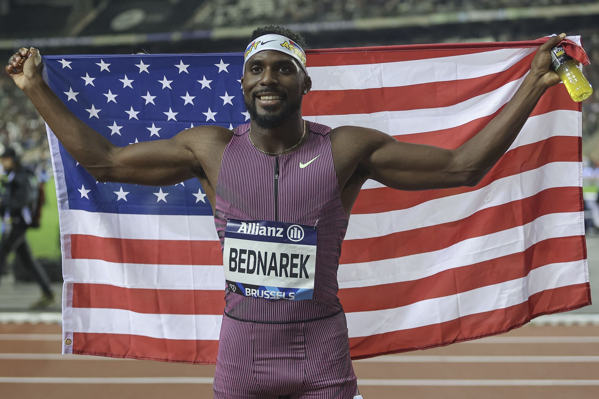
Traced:
MULTIPOLYGON (((522 227, 463 240, 438 251, 341 264, 339 287, 413 281, 455 267, 522 252, 544 239, 581 234, 577 224, 580 216, 579 212, 549 214, 522 227), (474 249, 480 249, 480 253, 474 249)), ((88 259, 66 260, 65 278, 73 282, 159 290, 222 290, 225 281, 222 266, 123 264, 88 259)))

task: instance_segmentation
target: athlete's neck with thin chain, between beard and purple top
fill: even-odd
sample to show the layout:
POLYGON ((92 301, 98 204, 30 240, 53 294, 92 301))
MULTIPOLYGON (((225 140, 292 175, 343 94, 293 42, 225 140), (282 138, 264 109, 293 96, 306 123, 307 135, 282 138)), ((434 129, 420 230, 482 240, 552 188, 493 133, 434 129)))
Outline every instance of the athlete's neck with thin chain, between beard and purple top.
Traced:
POLYGON ((304 120, 299 112, 283 121, 279 126, 270 129, 259 127, 252 121, 252 141, 256 147, 267 153, 279 153, 293 147, 301 139, 303 133, 304 120))

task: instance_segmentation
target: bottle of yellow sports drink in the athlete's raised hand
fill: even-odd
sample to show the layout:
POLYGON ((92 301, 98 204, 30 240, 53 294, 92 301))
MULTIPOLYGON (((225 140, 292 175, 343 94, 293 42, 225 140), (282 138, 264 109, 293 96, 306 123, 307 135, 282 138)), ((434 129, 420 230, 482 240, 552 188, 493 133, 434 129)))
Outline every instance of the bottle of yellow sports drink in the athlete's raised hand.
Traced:
POLYGON ((591 96, 593 87, 576 66, 576 61, 565 53, 561 45, 551 49, 551 64, 574 101, 580 102, 591 96))

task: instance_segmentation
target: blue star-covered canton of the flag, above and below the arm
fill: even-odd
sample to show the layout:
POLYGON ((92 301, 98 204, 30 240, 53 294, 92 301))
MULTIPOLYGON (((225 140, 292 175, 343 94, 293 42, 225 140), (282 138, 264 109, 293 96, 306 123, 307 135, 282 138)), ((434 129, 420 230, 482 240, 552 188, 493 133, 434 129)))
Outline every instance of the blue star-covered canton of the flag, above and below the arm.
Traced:
MULTIPOLYGON (((249 120, 242 53, 44 56, 52 90, 80 120, 119 147, 169 139, 201 125, 249 120)), ((211 215, 198 179, 180 184, 99 183, 59 144, 69 209, 211 215)))

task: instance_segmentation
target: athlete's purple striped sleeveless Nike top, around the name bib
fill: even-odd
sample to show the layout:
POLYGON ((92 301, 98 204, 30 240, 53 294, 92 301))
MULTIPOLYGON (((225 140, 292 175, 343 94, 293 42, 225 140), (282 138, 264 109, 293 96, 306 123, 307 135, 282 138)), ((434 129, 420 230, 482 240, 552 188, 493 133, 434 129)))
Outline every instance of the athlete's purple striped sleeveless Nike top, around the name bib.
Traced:
POLYGON ((268 156, 253 147, 247 134, 249 124, 239 126, 226 145, 214 200, 214 222, 221 245, 227 218, 317 226, 313 299, 265 300, 227 291, 225 313, 233 318, 293 322, 323 318, 341 310, 337 268, 347 229, 346 211, 331 153, 331 129, 317 123, 308 126, 302 145, 279 156, 268 156))

